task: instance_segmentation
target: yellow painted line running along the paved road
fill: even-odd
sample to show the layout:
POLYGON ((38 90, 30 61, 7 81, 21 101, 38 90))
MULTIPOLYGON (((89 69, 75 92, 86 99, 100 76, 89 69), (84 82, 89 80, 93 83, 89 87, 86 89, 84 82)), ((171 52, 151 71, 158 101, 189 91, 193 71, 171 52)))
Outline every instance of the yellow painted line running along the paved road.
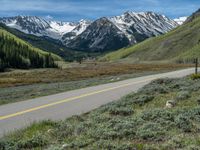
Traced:
POLYGON ((43 109, 43 108, 47 108, 47 107, 51 107, 51 106, 54 106, 54 105, 66 103, 66 102, 69 102, 69 101, 73 101, 73 100, 77 100, 77 99, 80 99, 80 98, 92 96, 92 95, 95 95, 95 94, 99 94, 99 93, 103 93, 103 92, 107 92, 107 91, 119 89, 119 88, 126 87, 126 86, 133 85, 133 84, 138 84, 138 83, 143 83, 143 82, 151 81, 151 80, 154 80, 154 79, 156 79, 156 78, 152 77, 152 78, 149 78, 149 79, 146 79, 146 80, 143 80, 143 81, 137 81, 137 82, 127 83, 127 84, 123 84, 123 85, 120 85, 120 86, 116 86, 116 87, 112 87, 112 88, 107 88, 107 89, 99 90, 99 91, 94 91, 94 92, 86 93, 86 94, 83 94, 83 95, 80 95, 80 96, 71 97, 71 98, 67 98, 67 99, 64 99, 64 100, 57 101, 57 102, 53 102, 53 103, 41 105, 41 106, 30 108, 30 109, 27 109, 27 110, 24 110, 24 111, 16 112, 16 113, 13 113, 13 114, 5 115, 5 116, 0 116, 0 121, 8 119, 8 118, 16 117, 16 116, 19 116, 19 115, 23 115, 23 114, 26 114, 26 113, 29 113, 29 112, 33 112, 33 111, 36 111, 36 110, 40 110, 40 109, 43 109))

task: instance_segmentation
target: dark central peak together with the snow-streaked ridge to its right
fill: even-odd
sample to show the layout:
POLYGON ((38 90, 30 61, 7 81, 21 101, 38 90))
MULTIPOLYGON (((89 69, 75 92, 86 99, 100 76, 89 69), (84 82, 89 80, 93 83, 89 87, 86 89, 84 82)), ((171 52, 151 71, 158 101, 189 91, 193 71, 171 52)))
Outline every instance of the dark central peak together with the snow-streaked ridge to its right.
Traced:
POLYGON ((164 34, 177 26, 174 20, 164 15, 153 12, 126 12, 121 16, 100 18, 72 40, 65 40, 64 35, 63 41, 73 49, 115 50, 164 34))

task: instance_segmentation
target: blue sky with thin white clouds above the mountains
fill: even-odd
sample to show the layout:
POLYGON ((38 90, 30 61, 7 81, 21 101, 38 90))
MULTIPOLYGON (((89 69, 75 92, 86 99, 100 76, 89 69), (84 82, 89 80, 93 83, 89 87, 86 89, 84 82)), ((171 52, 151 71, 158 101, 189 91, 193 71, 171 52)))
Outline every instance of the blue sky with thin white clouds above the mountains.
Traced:
POLYGON ((154 11, 171 18, 188 16, 200 0, 0 0, 0 17, 31 15, 60 21, 94 20, 125 11, 154 11))

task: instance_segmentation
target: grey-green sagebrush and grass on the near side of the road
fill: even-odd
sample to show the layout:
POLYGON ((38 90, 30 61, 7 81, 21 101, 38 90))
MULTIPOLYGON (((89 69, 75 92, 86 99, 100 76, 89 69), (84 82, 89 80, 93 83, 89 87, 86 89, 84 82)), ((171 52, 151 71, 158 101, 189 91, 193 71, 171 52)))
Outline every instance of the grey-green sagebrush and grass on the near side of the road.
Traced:
POLYGON ((199 149, 200 79, 158 79, 119 101, 65 121, 43 121, 1 149, 199 149), (171 104, 171 105, 168 105, 171 104))

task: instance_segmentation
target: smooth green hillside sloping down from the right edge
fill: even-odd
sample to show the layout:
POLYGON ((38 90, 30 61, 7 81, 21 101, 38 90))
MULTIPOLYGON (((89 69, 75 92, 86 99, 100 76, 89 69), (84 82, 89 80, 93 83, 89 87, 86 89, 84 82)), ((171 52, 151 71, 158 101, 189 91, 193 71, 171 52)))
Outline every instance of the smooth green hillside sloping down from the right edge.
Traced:
POLYGON ((200 57, 200 17, 173 31, 105 55, 101 60, 189 61, 200 57))

